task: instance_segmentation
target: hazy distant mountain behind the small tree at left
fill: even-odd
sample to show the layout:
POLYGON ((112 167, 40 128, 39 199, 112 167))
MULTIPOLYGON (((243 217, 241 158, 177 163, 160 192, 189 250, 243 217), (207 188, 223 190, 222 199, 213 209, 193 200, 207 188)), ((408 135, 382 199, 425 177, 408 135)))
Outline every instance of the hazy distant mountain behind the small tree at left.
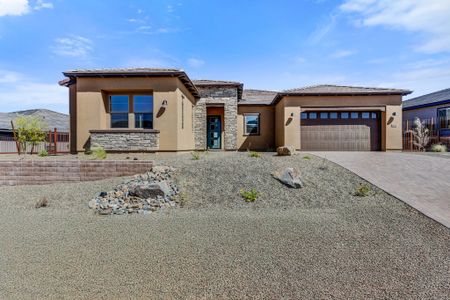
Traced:
POLYGON ((41 117, 48 124, 49 130, 53 130, 56 127, 61 132, 69 131, 69 115, 48 109, 29 109, 9 113, 0 112, 0 129, 11 129, 11 120, 19 116, 41 117))

